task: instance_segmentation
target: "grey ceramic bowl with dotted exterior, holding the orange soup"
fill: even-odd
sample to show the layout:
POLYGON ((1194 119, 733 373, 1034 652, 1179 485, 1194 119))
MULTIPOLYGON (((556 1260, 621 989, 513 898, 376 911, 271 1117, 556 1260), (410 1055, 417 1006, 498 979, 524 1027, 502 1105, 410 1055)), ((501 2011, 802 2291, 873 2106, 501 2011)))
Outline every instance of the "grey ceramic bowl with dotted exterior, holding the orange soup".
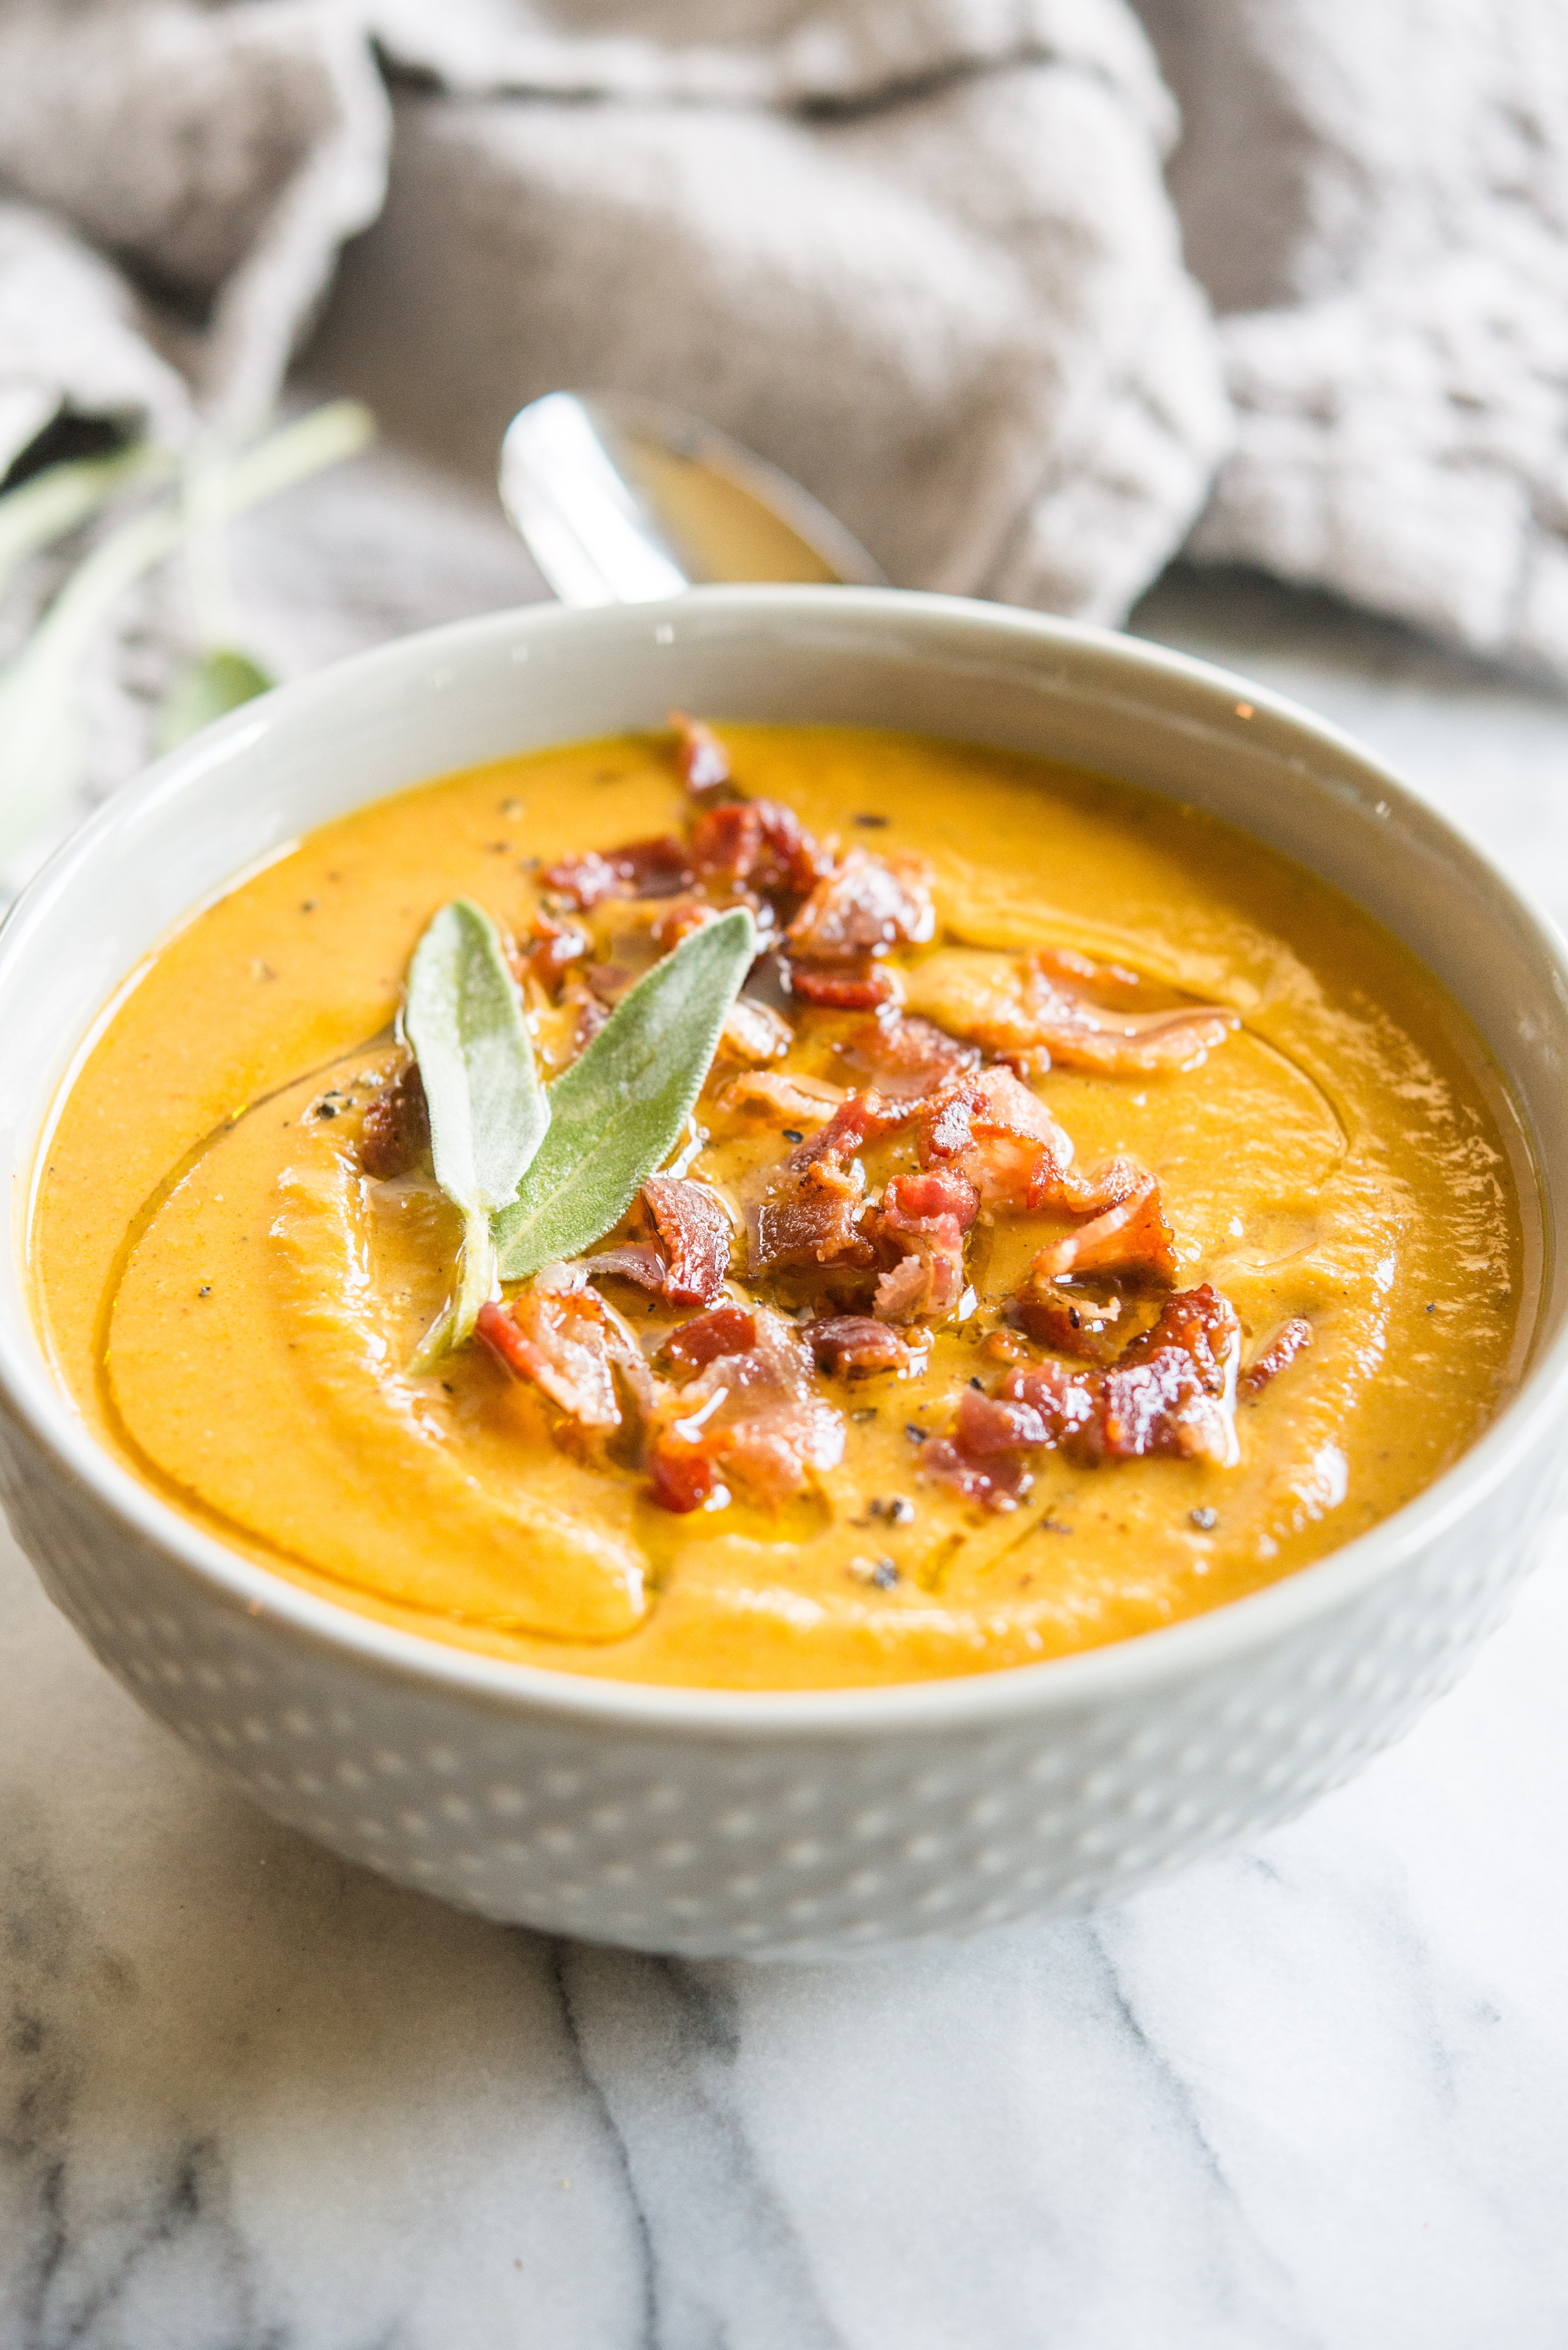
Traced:
MULTIPOLYGON (((1305 712, 1127 637, 946 597, 716 588, 498 613, 237 712, 113 799, 0 933, 16 1236, 0 1473, 103 1664, 279 1819, 493 1918, 695 1955, 822 1958, 1077 1911, 1253 1835, 1446 1690, 1535 1558, 1566 1448, 1568 1269, 1530 1375, 1408 1509, 1117 1647, 892 1690, 575 1680, 390 1631, 174 1516, 87 1434, 28 1314, 23 1194, 70 1055, 141 954, 296 832, 538 743, 716 719, 894 724, 1106 768, 1350 891, 1491 1043, 1568 1191, 1568 968, 1500 874, 1305 712)), ((1528 1180, 1528 1175, 1526 1175, 1528 1180)))

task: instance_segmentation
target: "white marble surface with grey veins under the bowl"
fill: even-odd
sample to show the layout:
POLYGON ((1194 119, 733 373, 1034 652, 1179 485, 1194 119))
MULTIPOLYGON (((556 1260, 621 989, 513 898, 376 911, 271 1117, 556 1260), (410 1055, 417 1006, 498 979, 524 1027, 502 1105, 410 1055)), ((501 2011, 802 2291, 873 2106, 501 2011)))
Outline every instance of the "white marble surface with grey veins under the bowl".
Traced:
MULTIPOLYGON (((479 494, 380 458, 258 524, 246 592, 303 665, 528 576, 479 494)), ((1138 627, 1364 733, 1568 916, 1563 705, 1249 580, 1138 627)), ((1561 2350, 1566 1551, 1256 1847, 746 1969, 505 1932, 270 1826, 2 1546, 0 2350, 1561 2350)))

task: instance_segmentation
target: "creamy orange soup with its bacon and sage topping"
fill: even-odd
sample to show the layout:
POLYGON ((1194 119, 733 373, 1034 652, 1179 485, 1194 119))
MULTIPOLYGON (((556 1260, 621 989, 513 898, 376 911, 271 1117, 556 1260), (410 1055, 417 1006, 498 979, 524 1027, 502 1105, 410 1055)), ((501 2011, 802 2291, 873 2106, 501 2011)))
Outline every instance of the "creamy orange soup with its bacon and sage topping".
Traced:
POLYGON ((195 914, 31 1246, 96 1436, 279 1574, 803 1687, 1120 1640, 1385 1518, 1519 1377, 1526 1184, 1430 973, 1256 841, 681 721, 195 914))

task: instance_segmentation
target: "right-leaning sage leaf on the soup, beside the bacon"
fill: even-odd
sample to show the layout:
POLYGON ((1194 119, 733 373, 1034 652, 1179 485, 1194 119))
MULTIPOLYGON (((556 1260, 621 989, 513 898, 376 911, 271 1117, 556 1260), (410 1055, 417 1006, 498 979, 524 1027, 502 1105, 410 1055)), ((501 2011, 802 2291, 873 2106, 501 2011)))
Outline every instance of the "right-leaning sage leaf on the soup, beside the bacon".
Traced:
POLYGON ((753 956, 744 907, 692 931, 554 1081, 549 1133, 495 1217, 502 1281, 582 1255, 622 1220, 676 1147, 753 956))

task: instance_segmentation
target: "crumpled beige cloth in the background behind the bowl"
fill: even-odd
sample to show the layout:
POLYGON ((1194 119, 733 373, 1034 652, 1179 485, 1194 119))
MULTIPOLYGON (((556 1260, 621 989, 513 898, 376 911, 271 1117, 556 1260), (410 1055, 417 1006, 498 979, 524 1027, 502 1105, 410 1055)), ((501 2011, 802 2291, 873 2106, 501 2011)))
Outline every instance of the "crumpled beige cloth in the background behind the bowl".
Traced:
POLYGON ((0 463, 244 425, 331 287, 317 374, 477 465, 643 390, 908 585, 1115 620, 1192 533, 1568 674, 1568 12, 1143 19, 0 0, 0 463))

